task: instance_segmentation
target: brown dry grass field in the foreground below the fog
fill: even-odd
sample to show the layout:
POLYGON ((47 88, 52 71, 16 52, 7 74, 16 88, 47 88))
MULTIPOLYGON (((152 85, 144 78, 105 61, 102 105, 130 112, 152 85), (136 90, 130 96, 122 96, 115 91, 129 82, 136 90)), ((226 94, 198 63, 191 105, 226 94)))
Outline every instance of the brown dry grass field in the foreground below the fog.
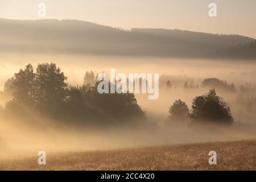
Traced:
MULTIPOLYGON (((47 152, 47 151, 46 151, 47 152)), ((38 156, 1 159, 1 170, 256 170, 256 140, 208 142, 109 151, 47 152, 38 156), (209 165, 209 151, 217 165, 209 165)))

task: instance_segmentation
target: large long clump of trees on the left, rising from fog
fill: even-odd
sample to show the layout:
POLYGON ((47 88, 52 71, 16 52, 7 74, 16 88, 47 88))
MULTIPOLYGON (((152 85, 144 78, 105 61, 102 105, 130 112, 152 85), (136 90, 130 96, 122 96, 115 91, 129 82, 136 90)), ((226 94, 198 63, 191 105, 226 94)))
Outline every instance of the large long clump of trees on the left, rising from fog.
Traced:
POLYGON ((35 71, 28 64, 6 81, 2 96, 11 96, 11 100, 2 112, 27 115, 28 110, 37 111, 46 118, 74 123, 146 119, 134 94, 99 94, 97 84, 93 72, 85 73, 84 85, 71 86, 56 64, 38 64, 35 71))

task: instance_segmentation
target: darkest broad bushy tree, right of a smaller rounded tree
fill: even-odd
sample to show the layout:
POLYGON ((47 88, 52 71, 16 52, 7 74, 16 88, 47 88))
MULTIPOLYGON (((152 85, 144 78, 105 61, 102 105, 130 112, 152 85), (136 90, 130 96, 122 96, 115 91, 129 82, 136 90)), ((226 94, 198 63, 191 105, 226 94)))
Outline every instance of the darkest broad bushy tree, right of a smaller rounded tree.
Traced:
POLYGON ((192 110, 189 117, 193 122, 214 122, 232 124, 233 117, 228 104, 216 94, 215 89, 209 93, 193 99, 192 110))

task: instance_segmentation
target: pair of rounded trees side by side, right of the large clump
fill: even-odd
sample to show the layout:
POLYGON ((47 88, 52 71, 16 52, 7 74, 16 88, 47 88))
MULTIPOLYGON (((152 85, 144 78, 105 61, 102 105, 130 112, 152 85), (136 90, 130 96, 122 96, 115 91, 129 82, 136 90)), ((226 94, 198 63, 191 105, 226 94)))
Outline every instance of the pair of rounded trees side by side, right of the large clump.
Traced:
POLYGON ((170 107, 169 122, 186 122, 191 120, 192 123, 217 123, 231 125, 233 117, 230 106, 216 94, 215 89, 202 96, 193 98, 192 108, 189 111, 185 102, 177 100, 170 107))

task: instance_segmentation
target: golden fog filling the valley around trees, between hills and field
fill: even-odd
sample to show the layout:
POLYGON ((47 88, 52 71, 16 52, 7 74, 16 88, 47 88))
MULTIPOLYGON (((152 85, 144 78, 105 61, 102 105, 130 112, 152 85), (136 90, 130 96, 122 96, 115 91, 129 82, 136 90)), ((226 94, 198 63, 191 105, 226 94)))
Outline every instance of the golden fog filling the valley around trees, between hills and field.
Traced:
MULTIPOLYGON (((203 142, 213 140, 237 140, 255 138, 256 103, 248 109, 245 103, 237 101, 240 87, 246 82, 256 85, 256 61, 228 60, 183 60, 157 59, 146 57, 106 57, 77 55, 8 55, 0 56, 0 90, 5 81, 14 73, 31 63, 56 63, 68 77, 69 85, 81 85, 85 71, 109 73, 115 68, 117 73, 159 73, 160 87, 158 100, 148 100, 147 94, 136 94, 138 105, 146 111, 147 122, 138 125, 110 125, 108 127, 76 127, 72 123, 61 123, 46 119, 40 113, 30 113, 33 121, 19 119, 19 115, 0 117, 0 146, 11 152, 53 150, 102 150, 126 147, 158 146, 163 144, 203 142), (230 105, 234 125, 230 128, 210 126, 210 130, 195 130, 189 123, 167 125, 169 107, 175 100, 183 100, 191 109, 195 96, 207 93, 209 88, 201 87, 205 78, 217 77, 234 83, 236 92, 217 89, 217 94, 230 105), (166 87, 170 80, 171 88, 166 87), (184 89, 184 82, 198 85, 198 88, 184 89)), ((256 92, 242 93, 256 98, 256 92)), ((5 107, 5 98, 0 104, 5 107)), ((109 103, 111 105, 111 103, 109 103)), ((29 113, 29 112, 28 112, 29 113)), ((92 121, 93 122, 93 121, 92 121)), ((2 150, 3 151, 3 150, 2 150)))

